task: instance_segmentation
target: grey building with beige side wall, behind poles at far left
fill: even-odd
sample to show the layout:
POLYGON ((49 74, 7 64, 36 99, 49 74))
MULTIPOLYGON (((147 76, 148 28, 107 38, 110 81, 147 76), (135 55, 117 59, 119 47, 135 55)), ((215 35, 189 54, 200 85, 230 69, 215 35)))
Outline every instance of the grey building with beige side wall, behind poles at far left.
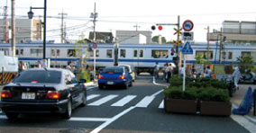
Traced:
MULTIPOLYGON (((8 23, 11 20, 8 19, 8 23)), ((0 40, 5 41, 5 21, 0 19, 0 40)), ((23 43, 27 40, 41 40, 42 39, 42 24, 38 19, 15 19, 16 25, 16 42, 23 43)), ((11 27, 9 24, 8 27, 11 27)), ((11 42, 11 28, 9 28, 8 39, 11 42)))

